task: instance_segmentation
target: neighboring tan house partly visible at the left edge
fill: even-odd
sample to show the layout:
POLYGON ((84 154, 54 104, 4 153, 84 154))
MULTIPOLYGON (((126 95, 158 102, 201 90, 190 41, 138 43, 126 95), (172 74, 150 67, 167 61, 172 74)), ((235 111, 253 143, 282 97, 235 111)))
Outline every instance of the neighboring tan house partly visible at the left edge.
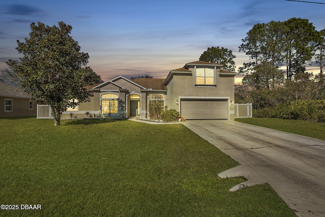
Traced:
POLYGON ((0 117, 32 116, 37 104, 22 88, 0 82, 0 117))

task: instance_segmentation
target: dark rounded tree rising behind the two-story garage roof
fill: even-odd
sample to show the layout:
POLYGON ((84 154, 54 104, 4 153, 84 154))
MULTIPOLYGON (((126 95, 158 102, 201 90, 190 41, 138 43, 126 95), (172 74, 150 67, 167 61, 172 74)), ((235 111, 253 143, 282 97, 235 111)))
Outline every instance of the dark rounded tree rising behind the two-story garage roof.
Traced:
POLYGON ((222 64, 222 70, 235 71, 236 66, 234 58, 236 58, 236 56, 231 50, 223 47, 209 47, 201 54, 200 61, 222 64))

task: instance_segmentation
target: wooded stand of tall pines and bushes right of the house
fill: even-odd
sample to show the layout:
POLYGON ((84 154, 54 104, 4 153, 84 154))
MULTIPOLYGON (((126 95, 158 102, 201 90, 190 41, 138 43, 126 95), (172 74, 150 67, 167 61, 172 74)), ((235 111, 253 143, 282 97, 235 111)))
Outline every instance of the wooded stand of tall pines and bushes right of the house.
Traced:
POLYGON ((252 103, 255 117, 297 119, 313 113, 317 118, 302 116, 325 121, 325 29, 317 31, 301 18, 257 23, 242 42, 239 51, 250 61, 239 68, 247 75, 235 88, 237 103, 252 103), (319 74, 306 72, 315 64, 319 74))

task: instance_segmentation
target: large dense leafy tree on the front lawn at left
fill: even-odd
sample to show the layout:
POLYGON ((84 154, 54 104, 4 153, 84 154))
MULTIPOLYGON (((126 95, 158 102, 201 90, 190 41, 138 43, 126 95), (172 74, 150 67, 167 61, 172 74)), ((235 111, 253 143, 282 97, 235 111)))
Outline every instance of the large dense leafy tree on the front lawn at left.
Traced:
POLYGON ((9 59, 7 64, 21 79, 21 86, 32 98, 52 107, 54 126, 60 125, 63 111, 89 100, 86 86, 88 53, 71 36, 72 26, 32 22, 25 42, 17 40, 20 61, 9 59))

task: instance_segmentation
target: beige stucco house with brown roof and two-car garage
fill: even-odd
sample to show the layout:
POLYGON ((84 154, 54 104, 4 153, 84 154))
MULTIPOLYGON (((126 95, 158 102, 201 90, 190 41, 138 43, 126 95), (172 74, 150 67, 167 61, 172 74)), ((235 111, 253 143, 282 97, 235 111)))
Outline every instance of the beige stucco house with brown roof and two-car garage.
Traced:
POLYGON ((175 109, 185 119, 227 119, 235 115, 237 73, 220 71, 222 65, 205 61, 187 63, 171 70, 166 79, 118 76, 101 84, 87 86, 90 101, 69 108, 62 117, 89 112, 116 118, 150 118, 150 101, 175 109), (65 115, 65 116, 64 116, 65 115))

